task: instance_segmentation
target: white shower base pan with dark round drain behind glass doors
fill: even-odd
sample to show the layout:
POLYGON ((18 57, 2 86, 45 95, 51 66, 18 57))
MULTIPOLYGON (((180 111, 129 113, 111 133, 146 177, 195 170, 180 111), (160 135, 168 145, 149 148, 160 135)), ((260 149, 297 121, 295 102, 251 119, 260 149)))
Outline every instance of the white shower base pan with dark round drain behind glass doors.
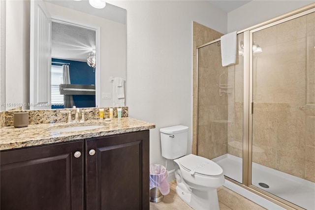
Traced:
MULTIPOLYGON (((225 176, 242 183, 242 158, 224 154, 212 159, 225 176)), ((307 210, 315 210, 315 183, 252 163, 252 185, 307 210)))

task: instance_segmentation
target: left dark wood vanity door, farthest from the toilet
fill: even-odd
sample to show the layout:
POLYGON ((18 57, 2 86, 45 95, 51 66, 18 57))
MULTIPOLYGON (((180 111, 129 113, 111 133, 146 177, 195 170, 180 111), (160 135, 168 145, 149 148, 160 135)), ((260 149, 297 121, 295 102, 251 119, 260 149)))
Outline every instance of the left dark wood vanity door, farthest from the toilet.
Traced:
POLYGON ((1 151, 0 209, 83 210, 83 146, 81 140, 1 151))

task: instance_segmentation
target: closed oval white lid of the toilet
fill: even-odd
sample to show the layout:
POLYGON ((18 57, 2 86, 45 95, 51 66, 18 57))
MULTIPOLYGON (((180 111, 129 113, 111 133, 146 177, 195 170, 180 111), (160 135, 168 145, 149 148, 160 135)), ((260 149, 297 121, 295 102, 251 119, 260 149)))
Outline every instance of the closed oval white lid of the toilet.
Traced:
POLYGON ((193 154, 179 158, 179 162, 190 171, 190 174, 217 176, 223 173, 222 168, 217 163, 193 154))

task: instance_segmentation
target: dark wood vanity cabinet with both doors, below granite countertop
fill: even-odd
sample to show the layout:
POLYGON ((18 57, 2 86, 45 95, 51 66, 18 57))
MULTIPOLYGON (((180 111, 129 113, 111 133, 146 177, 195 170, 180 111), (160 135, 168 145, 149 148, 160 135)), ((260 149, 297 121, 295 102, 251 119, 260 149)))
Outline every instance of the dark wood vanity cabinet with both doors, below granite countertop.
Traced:
POLYGON ((149 173, 149 130, 4 150, 0 209, 147 210, 149 173))

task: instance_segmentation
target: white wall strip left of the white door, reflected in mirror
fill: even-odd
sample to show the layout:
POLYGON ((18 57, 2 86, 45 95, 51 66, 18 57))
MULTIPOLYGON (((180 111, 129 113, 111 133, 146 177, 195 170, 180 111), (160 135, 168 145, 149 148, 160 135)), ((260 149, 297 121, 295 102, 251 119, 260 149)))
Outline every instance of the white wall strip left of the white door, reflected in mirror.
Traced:
POLYGON ((5 21, 5 102, 8 110, 30 102, 30 1, 6 1, 5 21))

